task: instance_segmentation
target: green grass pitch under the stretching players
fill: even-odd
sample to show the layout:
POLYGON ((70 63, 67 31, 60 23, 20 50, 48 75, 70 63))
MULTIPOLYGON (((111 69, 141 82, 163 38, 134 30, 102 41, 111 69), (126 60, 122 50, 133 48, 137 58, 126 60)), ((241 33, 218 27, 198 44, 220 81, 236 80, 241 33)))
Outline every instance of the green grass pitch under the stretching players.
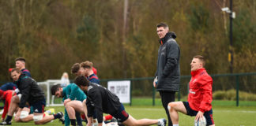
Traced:
MULTIPOLYGON (((133 99, 133 106, 126 105, 126 111, 136 119, 141 118, 167 118, 162 106, 160 106, 160 100, 156 100, 156 106, 152 105, 152 100, 147 102, 147 98, 133 99), (135 105, 134 105, 135 104, 135 105), (144 106, 142 106, 144 104, 144 106), (149 104, 149 106, 145 106, 149 104)), ((213 119, 216 126, 255 126, 256 125, 256 106, 255 102, 250 102, 250 106, 235 106, 235 102, 230 101, 214 101, 213 102, 213 119)), ((242 104, 242 102, 241 102, 242 104)), ((48 109, 49 107, 46 107, 48 109)), ((64 111, 64 107, 51 107, 55 108, 55 112, 64 111)), ((181 126, 193 125, 194 117, 189 117, 179 113, 179 124, 181 126)), ((34 125, 33 122, 28 123, 16 123, 13 125, 30 126, 34 125)), ((58 120, 54 120, 51 123, 44 125, 61 126, 62 124, 58 120)))

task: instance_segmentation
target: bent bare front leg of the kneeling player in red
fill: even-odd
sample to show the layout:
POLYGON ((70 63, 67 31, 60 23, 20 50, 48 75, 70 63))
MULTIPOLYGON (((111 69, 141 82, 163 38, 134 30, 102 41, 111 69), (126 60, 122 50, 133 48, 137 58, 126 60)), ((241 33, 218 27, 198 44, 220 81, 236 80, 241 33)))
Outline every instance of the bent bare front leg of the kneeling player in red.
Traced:
POLYGON ((172 124, 179 124, 178 112, 186 114, 186 108, 183 102, 170 102, 168 104, 168 109, 169 109, 172 124))

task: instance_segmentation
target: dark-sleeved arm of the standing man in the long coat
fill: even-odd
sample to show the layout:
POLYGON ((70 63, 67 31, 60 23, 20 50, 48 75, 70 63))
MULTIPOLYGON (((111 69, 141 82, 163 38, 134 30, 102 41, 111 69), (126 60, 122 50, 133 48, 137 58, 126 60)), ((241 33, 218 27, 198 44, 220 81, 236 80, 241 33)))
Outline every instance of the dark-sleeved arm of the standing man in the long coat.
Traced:
MULTIPOLYGON (((175 41, 175 40, 171 40, 175 41)), ((179 46, 177 43, 168 43, 168 52, 167 53, 167 61, 164 66, 164 76, 168 76, 171 72, 172 69, 175 68, 176 65, 179 64, 178 59, 179 59, 179 46)))

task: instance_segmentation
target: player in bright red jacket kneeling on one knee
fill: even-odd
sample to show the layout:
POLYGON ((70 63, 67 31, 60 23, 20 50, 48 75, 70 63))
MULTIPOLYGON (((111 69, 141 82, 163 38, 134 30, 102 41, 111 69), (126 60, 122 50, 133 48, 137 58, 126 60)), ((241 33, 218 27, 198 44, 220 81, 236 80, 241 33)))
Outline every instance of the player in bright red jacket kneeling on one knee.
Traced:
POLYGON ((191 61, 191 80, 188 102, 170 102, 168 109, 173 126, 179 126, 178 112, 196 116, 195 120, 205 116, 206 124, 214 126, 213 109, 213 79, 205 70, 205 59, 194 56, 191 61))

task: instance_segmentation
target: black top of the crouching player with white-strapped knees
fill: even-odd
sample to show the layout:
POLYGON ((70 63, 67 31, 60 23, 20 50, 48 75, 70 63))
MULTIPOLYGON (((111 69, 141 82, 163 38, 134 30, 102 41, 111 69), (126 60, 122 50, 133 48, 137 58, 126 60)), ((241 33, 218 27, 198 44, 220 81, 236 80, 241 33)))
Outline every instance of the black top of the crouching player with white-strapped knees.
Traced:
POLYGON ((19 104, 20 108, 24 108, 26 102, 28 102, 29 105, 32 105, 33 103, 45 99, 43 90, 31 77, 21 74, 19 80, 15 83, 21 93, 21 102, 19 104))

